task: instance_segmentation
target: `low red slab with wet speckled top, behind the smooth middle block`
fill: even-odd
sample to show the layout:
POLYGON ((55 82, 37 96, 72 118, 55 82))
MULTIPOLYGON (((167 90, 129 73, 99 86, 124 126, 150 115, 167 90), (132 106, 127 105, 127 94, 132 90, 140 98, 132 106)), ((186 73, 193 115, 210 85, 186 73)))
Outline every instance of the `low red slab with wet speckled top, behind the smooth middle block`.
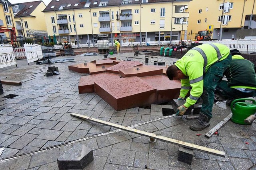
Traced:
POLYGON ((107 68, 106 72, 119 74, 119 70, 121 70, 121 69, 134 67, 134 66, 141 66, 141 65, 142 65, 142 63, 140 63, 138 61, 121 61, 120 63, 118 63, 110 68, 107 68))

